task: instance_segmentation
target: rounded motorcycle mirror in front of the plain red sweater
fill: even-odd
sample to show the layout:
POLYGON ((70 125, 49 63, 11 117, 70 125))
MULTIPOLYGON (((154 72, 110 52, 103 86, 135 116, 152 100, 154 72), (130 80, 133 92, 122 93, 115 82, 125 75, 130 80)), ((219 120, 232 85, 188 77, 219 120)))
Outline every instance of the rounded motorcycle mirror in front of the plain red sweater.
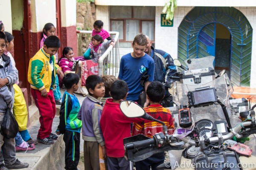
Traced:
POLYGON ((119 107, 122 113, 129 118, 142 117, 145 114, 144 109, 140 105, 130 100, 122 100, 119 107))

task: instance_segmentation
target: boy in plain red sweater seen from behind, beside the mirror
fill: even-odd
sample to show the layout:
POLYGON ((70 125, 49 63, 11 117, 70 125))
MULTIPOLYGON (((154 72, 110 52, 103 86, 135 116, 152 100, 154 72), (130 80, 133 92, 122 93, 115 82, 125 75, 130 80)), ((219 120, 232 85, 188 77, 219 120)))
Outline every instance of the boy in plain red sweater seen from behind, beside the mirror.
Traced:
POLYGON ((131 136, 131 122, 141 122, 142 118, 128 118, 120 110, 119 104, 126 99, 128 86, 123 80, 116 80, 110 88, 113 99, 107 99, 102 111, 100 126, 105 139, 109 170, 130 170, 132 164, 125 159, 123 139, 131 136))

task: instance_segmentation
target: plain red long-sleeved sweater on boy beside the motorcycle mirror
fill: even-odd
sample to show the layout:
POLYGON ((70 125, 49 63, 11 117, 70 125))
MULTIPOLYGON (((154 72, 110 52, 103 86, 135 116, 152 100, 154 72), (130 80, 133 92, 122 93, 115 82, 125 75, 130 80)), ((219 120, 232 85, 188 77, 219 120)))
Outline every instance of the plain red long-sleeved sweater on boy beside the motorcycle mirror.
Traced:
POLYGON ((120 110, 118 103, 107 99, 102 110, 100 126, 105 139, 108 157, 124 157, 125 150, 123 139, 131 136, 131 123, 141 122, 142 118, 128 118, 120 110))

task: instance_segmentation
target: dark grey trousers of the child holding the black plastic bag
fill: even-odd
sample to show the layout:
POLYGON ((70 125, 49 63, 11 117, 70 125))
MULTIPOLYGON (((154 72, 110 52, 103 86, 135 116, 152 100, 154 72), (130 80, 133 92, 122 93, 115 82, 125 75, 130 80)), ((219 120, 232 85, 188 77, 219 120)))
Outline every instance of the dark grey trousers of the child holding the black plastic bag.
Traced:
MULTIPOLYGON (((3 122, 3 117, 5 113, 0 113, 0 127, 3 122)), ((0 134, 0 164, 12 165, 16 161, 16 152, 15 152, 15 139, 6 139, 3 135, 0 134)))

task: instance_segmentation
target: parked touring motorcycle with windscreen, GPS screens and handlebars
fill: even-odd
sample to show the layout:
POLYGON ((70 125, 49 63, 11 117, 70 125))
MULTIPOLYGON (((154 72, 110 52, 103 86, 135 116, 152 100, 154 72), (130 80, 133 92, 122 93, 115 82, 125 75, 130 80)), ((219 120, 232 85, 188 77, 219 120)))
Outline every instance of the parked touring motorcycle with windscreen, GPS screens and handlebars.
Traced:
MULTIPOLYGON (((244 170, 256 169, 255 153, 250 147, 231 140, 242 139, 256 132, 253 111, 256 106, 248 111, 247 119, 242 122, 230 111, 229 99, 233 87, 227 74, 223 74, 222 71, 221 74, 215 75, 214 70, 211 69, 212 65, 199 69, 198 74, 198 69, 195 68, 203 64, 198 62, 194 64, 196 63, 194 61, 191 63, 193 64, 189 65, 189 70, 181 72, 180 82, 176 81, 173 85, 173 101, 180 106, 180 108, 169 108, 173 113, 177 113, 175 119, 179 120, 180 126, 173 135, 167 134, 163 122, 153 119, 136 103, 127 100, 120 103, 120 109, 125 116, 160 122, 164 129, 164 133, 156 133, 152 139, 143 135, 124 139, 125 158, 136 162, 155 153, 169 151, 170 160, 157 168, 163 170, 183 168, 241 170, 243 167, 244 170), (176 152, 175 155, 174 150, 183 150, 183 152, 176 152), (243 156, 239 157, 238 153, 243 156), (180 160, 177 160, 178 156, 180 160)), ((252 146, 254 147, 255 144, 252 146)))

